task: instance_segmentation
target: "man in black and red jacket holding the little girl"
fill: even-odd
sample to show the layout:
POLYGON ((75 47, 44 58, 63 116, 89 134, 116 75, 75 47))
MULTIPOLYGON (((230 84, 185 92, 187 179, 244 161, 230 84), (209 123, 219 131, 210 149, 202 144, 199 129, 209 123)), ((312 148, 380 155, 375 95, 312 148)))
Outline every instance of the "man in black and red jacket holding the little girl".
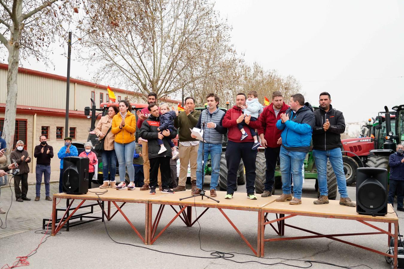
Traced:
MULTIPOLYGON (((140 129, 140 137, 147 140, 148 153, 149 153, 149 161, 150 161, 150 194, 156 194, 156 186, 157 186, 157 175, 158 168, 160 166, 161 171, 161 182, 162 182, 162 192, 173 194, 173 190, 168 188, 168 184, 171 181, 171 170, 170 170, 170 159, 172 157, 171 150, 166 150, 160 154, 158 154, 160 150, 160 146, 157 142, 157 139, 163 139, 163 136, 167 136, 170 139, 173 139, 177 136, 177 130, 173 129, 172 132, 168 130, 164 130, 162 134, 157 131, 157 128, 160 126, 159 118, 160 111, 156 104, 149 104, 147 107, 150 112, 150 116, 145 119, 142 123, 142 127, 140 129)), ((167 139, 163 139, 164 146, 166 148, 170 148, 167 139)))

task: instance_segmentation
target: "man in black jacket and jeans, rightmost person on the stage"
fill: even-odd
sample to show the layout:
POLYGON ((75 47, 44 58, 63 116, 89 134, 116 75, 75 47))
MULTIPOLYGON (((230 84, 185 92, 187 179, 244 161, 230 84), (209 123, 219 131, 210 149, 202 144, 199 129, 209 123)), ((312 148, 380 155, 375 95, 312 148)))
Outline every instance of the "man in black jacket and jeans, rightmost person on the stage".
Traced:
POLYGON ((332 108, 328 92, 320 94, 320 109, 314 111, 316 123, 313 128, 313 157, 316 161, 320 198, 314 204, 328 204, 327 158, 337 177, 339 204, 356 206, 348 197, 347 182, 341 152, 341 133, 345 131, 345 119, 341 111, 332 108))

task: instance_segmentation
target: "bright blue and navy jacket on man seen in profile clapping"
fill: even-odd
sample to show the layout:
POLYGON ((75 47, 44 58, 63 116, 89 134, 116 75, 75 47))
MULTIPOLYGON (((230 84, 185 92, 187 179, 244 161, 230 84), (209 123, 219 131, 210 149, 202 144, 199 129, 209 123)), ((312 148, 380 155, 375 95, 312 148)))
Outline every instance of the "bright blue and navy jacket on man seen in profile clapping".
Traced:
POLYGON ((288 108, 285 114, 289 120, 282 123, 280 119, 276 123, 276 127, 283 130, 282 146, 289 151, 309 152, 315 121, 311 104, 306 102, 296 113, 288 108))

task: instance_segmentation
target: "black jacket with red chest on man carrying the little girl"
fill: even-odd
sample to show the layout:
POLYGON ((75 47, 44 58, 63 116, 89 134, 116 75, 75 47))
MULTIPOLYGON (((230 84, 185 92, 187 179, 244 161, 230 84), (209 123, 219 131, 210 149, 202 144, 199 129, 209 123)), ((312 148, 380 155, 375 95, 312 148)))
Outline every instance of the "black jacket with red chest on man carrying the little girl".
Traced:
POLYGON ((149 147, 149 159, 156 157, 172 157, 171 155, 171 147, 168 144, 168 139, 173 139, 177 136, 177 130, 173 129, 169 136, 164 136, 163 143, 166 147, 166 151, 158 154, 160 150, 160 146, 157 143, 158 131, 157 128, 160 127, 159 122, 160 117, 154 117, 150 115, 145 121, 142 123, 142 127, 140 128, 140 137, 147 140, 147 146, 149 147))

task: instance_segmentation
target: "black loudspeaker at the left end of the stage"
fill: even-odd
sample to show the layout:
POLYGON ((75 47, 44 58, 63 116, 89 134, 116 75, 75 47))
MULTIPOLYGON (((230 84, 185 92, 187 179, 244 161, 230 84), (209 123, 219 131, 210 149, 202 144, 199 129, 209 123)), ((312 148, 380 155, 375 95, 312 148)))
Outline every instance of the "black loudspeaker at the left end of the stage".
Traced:
POLYGON ((67 194, 88 192, 88 158, 77 156, 63 158, 63 192, 67 194))

